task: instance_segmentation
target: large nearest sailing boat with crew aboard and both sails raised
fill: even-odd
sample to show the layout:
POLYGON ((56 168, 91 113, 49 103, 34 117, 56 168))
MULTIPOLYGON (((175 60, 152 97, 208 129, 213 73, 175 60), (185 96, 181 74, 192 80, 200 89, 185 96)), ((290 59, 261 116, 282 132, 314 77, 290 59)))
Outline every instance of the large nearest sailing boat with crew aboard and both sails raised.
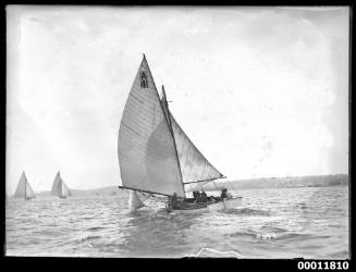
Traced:
MULTIPOLYGON (((192 185, 201 187, 224 178, 198 150, 169 110, 164 87, 160 99, 146 57, 132 85, 119 129, 119 164, 122 186, 130 189, 128 208, 144 206, 137 191, 171 197, 186 202, 192 185)), ((186 206, 180 211, 234 208, 242 198, 186 206)), ((175 210, 174 210, 175 211, 175 210)))

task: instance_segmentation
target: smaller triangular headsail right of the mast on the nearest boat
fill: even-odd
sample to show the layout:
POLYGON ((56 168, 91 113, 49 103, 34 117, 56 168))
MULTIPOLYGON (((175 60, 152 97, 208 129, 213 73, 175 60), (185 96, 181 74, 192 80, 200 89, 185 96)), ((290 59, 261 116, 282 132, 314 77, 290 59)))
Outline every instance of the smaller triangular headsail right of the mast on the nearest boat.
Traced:
POLYGON ((224 177, 198 150, 188 136, 181 128, 168 108, 164 88, 162 87, 162 106, 167 118, 170 120, 172 132, 174 134, 176 150, 180 159, 183 183, 185 189, 195 187, 196 182, 202 182, 205 185, 213 180, 224 177))

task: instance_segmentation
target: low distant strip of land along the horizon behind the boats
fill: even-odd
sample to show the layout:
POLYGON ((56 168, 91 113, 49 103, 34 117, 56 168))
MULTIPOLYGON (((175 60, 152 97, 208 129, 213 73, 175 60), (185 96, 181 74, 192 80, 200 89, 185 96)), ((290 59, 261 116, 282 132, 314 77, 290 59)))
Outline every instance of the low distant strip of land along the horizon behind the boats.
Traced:
MULTIPOLYGON (((347 186, 348 175, 316 175, 316 176, 287 176, 287 177, 262 177, 251 180, 238 180, 229 182, 216 182, 218 187, 228 187, 230 189, 262 189, 262 188, 297 188, 297 187, 330 187, 347 186)), ((196 187, 199 189, 198 187, 196 187)), ((205 190, 213 190, 213 184, 205 186, 205 190)), ((194 188, 192 189, 194 190, 194 188)), ((119 189, 118 185, 97 189, 72 189, 73 196, 127 196, 127 190, 119 189)), ((36 191, 39 197, 51 196, 50 191, 36 191)))

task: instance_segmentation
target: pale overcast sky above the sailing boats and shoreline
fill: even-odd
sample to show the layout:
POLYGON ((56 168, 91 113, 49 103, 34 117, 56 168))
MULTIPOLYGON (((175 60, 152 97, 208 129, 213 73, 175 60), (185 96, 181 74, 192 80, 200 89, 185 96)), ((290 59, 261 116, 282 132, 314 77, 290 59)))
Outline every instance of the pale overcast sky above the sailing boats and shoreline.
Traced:
POLYGON ((348 173, 349 10, 7 7, 7 193, 58 171, 120 185, 118 133, 146 54, 156 86, 229 180, 348 173))

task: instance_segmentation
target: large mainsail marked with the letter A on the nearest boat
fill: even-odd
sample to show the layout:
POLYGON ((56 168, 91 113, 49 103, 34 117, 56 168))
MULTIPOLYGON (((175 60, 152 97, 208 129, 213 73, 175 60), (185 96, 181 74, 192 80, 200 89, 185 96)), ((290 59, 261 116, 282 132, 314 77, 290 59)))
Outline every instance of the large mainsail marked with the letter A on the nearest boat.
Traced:
POLYGON ((118 153, 123 187, 185 197, 175 144, 145 55, 122 114, 118 153))

